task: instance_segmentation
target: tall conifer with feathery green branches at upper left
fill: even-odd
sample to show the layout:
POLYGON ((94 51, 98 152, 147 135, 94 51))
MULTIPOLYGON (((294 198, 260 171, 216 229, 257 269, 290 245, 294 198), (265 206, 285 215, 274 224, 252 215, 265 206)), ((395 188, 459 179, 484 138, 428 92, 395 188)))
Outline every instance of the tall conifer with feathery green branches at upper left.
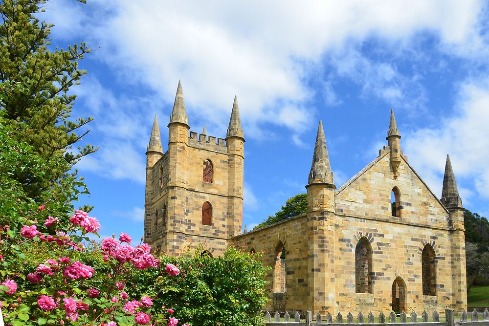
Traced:
POLYGON ((50 183, 66 177, 66 173, 83 155, 94 152, 92 146, 72 152, 88 131, 80 132, 91 118, 70 119, 76 95, 69 94, 79 84, 85 70, 78 61, 90 49, 85 43, 68 46, 67 50, 50 51, 52 24, 37 17, 46 0, 0 1, 0 109, 3 123, 17 130, 17 140, 24 140, 46 161, 63 158, 46 171, 44 182, 33 186, 24 174, 15 175, 25 192, 37 199, 50 183), (22 87, 19 87, 22 85, 22 87))

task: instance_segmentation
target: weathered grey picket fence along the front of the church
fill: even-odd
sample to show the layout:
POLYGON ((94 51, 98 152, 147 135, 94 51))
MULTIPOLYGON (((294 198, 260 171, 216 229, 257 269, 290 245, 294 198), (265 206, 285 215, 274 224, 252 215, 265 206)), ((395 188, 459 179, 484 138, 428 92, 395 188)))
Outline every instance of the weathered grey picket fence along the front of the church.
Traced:
POLYGON ((352 313, 348 313, 346 316, 346 323, 343 322, 343 316, 341 313, 338 312, 336 315, 335 321, 333 322, 333 316, 331 313, 328 312, 328 314, 325 316, 323 319, 323 316, 318 312, 316 314, 315 321, 312 320, 312 312, 307 310, 306 311, 306 321, 301 321, 301 316, 299 312, 295 312, 294 315, 294 321, 290 321, 290 315, 289 312, 285 312, 284 314, 284 321, 281 322, 281 315, 277 311, 275 312, 273 316, 273 321, 271 318, 270 313, 267 311, 265 313, 265 319, 266 319, 266 324, 267 326, 282 326, 282 325, 298 325, 298 326, 317 326, 317 325, 325 325, 328 324, 329 326, 357 326, 359 324, 368 324, 371 326, 380 326, 383 324, 388 324, 389 326, 461 326, 461 325, 467 325, 467 326, 489 326, 489 311, 486 308, 483 313, 477 312, 476 309, 472 311, 472 316, 470 316, 470 321, 467 321, 467 312, 465 310, 462 310, 462 313, 460 315, 460 321, 455 321, 455 314, 452 309, 445 309, 445 322, 440 322, 440 315, 438 312, 433 312, 432 314, 432 320, 433 322, 428 322, 428 313, 423 311, 421 314, 421 321, 418 322, 418 315, 416 314, 415 311, 411 312, 411 315, 409 316, 410 322, 407 322, 408 316, 404 311, 400 313, 400 323, 397 322, 397 315, 394 313, 394 311, 391 311, 389 313, 389 319, 386 321, 386 316, 383 312, 380 312, 378 315, 378 322, 375 322, 375 317, 372 311, 367 315, 366 322, 365 322, 365 317, 364 315, 360 312, 356 320, 357 322, 354 323, 354 317, 352 313))

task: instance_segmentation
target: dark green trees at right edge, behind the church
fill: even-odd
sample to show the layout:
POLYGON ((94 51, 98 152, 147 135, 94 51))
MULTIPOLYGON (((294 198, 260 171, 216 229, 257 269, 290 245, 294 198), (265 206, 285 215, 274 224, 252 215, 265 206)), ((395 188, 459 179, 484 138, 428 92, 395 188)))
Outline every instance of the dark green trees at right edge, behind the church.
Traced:
POLYGON ((479 252, 489 251, 488 219, 464 209, 464 226, 466 242, 477 243, 479 252))

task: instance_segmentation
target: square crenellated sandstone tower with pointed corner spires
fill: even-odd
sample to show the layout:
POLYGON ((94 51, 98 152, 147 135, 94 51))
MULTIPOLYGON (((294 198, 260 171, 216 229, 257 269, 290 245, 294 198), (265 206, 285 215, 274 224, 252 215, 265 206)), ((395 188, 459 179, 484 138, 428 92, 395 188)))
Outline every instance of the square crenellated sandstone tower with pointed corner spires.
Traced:
POLYGON ((168 124, 163 153, 157 118, 148 145, 145 240, 156 250, 179 254, 199 244, 221 255, 243 221, 244 136, 235 98, 226 138, 191 131, 183 90, 168 124))

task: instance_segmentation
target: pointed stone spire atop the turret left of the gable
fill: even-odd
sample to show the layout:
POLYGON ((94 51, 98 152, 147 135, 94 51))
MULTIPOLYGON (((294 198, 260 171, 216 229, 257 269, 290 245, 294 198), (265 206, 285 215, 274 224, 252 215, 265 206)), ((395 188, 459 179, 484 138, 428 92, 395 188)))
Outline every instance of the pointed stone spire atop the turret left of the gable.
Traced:
POLYGON ((311 173, 309 182, 326 182, 334 184, 333 173, 331 172, 330 159, 328 157, 328 148, 326 147, 326 138, 324 137, 323 122, 319 120, 317 128, 316 145, 314 155, 312 156, 311 173))

